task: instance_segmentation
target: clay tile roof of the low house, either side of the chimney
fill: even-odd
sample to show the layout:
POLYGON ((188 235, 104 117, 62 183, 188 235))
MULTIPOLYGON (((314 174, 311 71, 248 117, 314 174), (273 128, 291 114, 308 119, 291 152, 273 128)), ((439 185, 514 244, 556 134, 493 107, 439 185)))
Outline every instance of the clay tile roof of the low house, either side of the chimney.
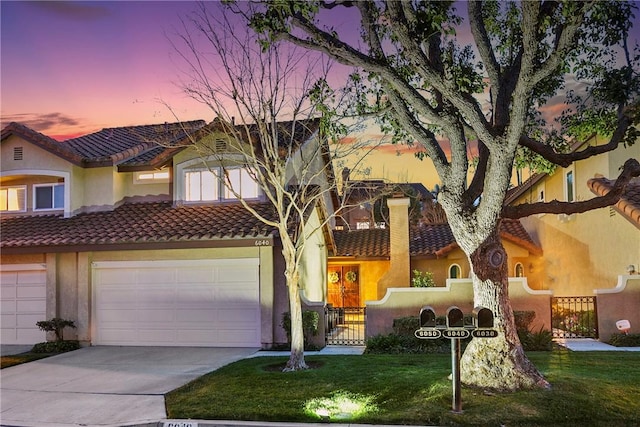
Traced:
MULTIPOLYGON (((520 245, 534 254, 541 254, 520 221, 505 219, 500 224, 503 239, 520 245)), ((389 230, 336 230, 336 256, 389 257, 389 230)), ((411 256, 440 257, 458 247, 449 224, 426 224, 409 230, 411 256)))

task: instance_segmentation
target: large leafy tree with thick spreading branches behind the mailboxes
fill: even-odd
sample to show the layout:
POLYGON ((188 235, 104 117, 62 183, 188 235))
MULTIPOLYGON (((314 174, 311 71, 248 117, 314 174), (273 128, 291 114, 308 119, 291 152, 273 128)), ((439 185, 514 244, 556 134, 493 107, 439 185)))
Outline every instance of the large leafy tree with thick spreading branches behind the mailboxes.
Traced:
MULTIPOLYGON (((472 1, 465 3, 473 45, 456 37, 457 3, 442 1, 266 2, 252 25, 265 40, 286 40, 359 67, 370 84, 356 99, 380 114, 398 142, 418 144, 442 182, 438 201, 472 268, 475 304, 496 314, 499 337, 473 340, 463 358, 466 384, 516 390, 548 383, 528 360, 508 297, 501 218, 543 212, 579 213, 615 203, 633 176, 628 160, 615 190, 577 203, 503 206, 518 153, 540 164, 574 161, 633 144, 638 132, 638 56, 626 43, 632 3, 617 1, 472 1), (362 45, 330 24, 352 16, 362 45), (568 76, 571 71, 573 75, 568 76), (568 83, 581 91, 569 91, 568 83), (569 96, 559 123, 539 113, 552 97, 569 96), (567 152, 590 132, 609 142, 567 152), (449 150, 437 136, 445 136, 449 150), (472 178, 468 157, 478 144, 472 178)), ((557 98, 553 98, 555 102, 557 98)), ((588 144, 587 144, 588 145, 588 144)), ((532 162, 529 162, 530 164, 532 162)))

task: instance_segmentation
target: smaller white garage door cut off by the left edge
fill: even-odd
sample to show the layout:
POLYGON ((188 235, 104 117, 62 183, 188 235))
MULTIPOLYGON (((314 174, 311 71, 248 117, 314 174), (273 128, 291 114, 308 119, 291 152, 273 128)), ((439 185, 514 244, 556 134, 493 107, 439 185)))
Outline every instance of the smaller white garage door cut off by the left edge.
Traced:
POLYGON ((46 320, 47 271, 40 264, 3 265, 0 272, 2 344, 46 341, 36 322, 46 320))

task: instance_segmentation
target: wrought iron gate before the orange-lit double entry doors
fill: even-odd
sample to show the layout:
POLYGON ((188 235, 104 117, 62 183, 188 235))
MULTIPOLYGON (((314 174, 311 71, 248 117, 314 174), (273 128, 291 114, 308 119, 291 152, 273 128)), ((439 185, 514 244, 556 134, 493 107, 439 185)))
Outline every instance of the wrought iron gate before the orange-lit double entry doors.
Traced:
POLYGON ((327 345, 365 345, 365 307, 325 308, 327 345))

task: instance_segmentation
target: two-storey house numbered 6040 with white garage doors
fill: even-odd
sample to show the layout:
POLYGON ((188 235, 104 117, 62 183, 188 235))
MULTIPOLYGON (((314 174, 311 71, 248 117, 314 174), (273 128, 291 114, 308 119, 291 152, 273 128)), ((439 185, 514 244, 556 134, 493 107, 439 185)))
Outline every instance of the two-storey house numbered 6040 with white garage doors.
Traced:
MULTIPOLYGON (((35 324, 52 317, 74 320, 66 335, 84 345, 286 342, 279 236, 213 176, 221 158, 238 163, 218 126, 109 128, 62 142, 18 123, 2 129, 3 344, 44 341, 35 324), (222 157, 203 157, 193 137, 222 157)), ((293 157, 322 143, 318 128, 295 127, 293 157)), ((273 218, 242 164, 227 172, 273 218)), ((307 295, 323 295, 324 236, 303 262, 307 295)))

